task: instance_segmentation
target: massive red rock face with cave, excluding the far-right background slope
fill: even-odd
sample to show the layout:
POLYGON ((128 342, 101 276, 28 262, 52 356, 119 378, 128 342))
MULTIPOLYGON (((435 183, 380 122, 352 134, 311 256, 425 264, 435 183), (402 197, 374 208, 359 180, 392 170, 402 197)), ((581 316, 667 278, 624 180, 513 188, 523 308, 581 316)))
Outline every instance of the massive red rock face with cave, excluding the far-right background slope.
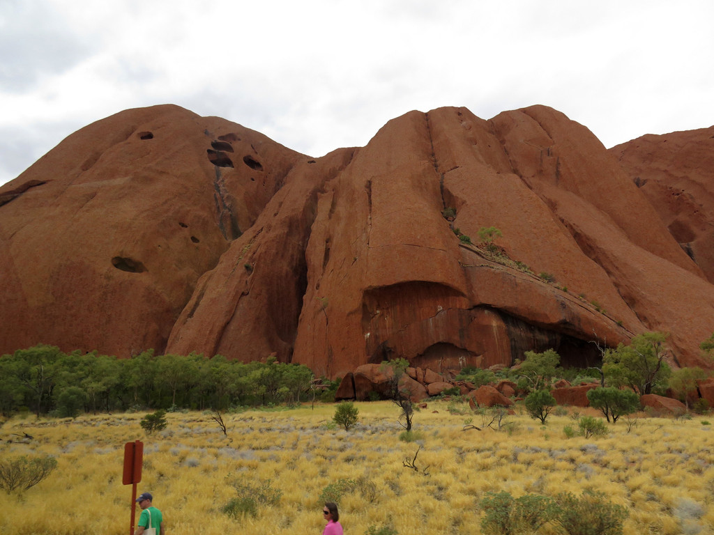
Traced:
POLYGON ((706 365, 710 265, 632 173, 544 106, 414 111, 314 159, 177 106, 125 111, 0 188, 0 352, 275 354, 336 377, 550 347, 585 366, 664 330, 675 363, 706 365))

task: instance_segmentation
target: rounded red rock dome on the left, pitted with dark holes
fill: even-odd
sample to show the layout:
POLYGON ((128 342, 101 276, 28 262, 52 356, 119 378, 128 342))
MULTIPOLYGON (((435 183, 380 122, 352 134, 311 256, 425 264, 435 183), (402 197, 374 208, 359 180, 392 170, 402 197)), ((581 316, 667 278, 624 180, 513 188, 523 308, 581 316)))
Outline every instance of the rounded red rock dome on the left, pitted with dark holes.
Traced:
POLYGON ((198 277, 306 160, 178 106, 69 136, 0 188, 0 352, 162 352, 198 277))

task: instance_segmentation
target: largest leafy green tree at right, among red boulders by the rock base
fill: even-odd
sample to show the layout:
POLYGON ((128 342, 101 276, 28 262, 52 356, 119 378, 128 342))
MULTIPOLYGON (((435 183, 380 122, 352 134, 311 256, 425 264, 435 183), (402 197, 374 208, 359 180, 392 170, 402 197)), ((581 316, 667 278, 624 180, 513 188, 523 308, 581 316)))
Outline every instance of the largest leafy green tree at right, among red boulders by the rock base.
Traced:
POLYGON ((670 367, 665 362, 668 348, 663 332, 645 332, 633 337, 630 345, 619 344, 603 355, 603 372, 611 387, 626 386, 639 394, 652 394, 666 387, 670 367))

